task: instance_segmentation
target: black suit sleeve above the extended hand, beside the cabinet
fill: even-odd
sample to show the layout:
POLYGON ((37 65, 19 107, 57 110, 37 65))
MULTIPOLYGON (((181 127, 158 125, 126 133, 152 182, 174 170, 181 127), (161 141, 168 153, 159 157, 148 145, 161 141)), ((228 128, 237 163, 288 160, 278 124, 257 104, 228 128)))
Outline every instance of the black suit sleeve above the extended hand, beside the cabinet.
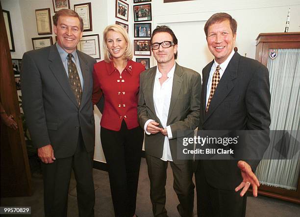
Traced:
POLYGON ((249 160, 247 163, 255 171, 260 162, 257 159, 262 159, 270 141, 270 81, 269 71, 264 65, 259 64, 255 73, 253 73, 253 77, 247 88, 245 100, 248 118, 247 128, 248 130, 254 130, 254 136, 252 135, 248 140, 251 145, 248 145, 246 152, 251 153, 251 159, 256 159, 249 160))

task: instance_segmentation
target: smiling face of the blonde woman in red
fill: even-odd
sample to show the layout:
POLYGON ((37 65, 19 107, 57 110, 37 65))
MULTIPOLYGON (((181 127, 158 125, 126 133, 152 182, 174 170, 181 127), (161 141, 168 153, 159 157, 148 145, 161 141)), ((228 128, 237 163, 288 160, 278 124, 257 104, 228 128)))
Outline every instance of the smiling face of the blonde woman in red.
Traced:
POLYGON ((106 46, 111 57, 117 59, 124 57, 127 42, 121 33, 110 30, 106 33, 106 46))

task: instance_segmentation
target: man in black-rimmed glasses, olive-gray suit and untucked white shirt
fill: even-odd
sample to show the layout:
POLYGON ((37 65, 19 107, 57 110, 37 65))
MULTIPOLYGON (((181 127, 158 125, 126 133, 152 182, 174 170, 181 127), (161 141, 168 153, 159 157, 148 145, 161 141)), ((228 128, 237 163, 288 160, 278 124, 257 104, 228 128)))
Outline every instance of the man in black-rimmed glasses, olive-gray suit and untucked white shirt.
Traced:
POLYGON ((193 216, 194 184, 191 160, 177 159, 178 131, 195 130, 200 116, 200 74, 179 66, 177 38, 166 26, 158 26, 151 37, 157 67, 140 76, 138 120, 146 132, 145 151, 150 178, 150 199, 155 217, 166 217, 166 173, 170 162, 174 190, 182 217, 193 216))

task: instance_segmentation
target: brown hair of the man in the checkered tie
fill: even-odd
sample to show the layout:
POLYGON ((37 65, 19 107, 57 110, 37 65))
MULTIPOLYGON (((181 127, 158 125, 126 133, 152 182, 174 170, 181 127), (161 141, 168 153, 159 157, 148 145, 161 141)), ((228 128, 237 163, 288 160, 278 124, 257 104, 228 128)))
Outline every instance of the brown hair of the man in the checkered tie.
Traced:
POLYGON ((205 23, 204 32, 205 32, 206 37, 207 37, 208 27, 210 27, 211 25, 216 24, 216 23, 221 23, 225 20, 229 21, 231 31, 233 34, 235 34, 236 29, 237 29, 236 21, 227 13, 216 13, 216 14, 213 14, 205 23))

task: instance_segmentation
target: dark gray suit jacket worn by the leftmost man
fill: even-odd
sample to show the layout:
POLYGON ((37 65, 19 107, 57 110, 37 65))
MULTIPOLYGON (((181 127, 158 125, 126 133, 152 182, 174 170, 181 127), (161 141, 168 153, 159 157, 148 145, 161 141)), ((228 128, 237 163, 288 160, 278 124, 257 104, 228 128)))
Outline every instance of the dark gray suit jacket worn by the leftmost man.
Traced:
POLYGON ((21 81, 26 125, 34 145, 51 144, 55 158, 75 153, 79 129, 88 152, 95 146, 95 121, 91 101, 96 60, 77 51, 84 88, 80 107, 55 45, 26 52, 21 81))

